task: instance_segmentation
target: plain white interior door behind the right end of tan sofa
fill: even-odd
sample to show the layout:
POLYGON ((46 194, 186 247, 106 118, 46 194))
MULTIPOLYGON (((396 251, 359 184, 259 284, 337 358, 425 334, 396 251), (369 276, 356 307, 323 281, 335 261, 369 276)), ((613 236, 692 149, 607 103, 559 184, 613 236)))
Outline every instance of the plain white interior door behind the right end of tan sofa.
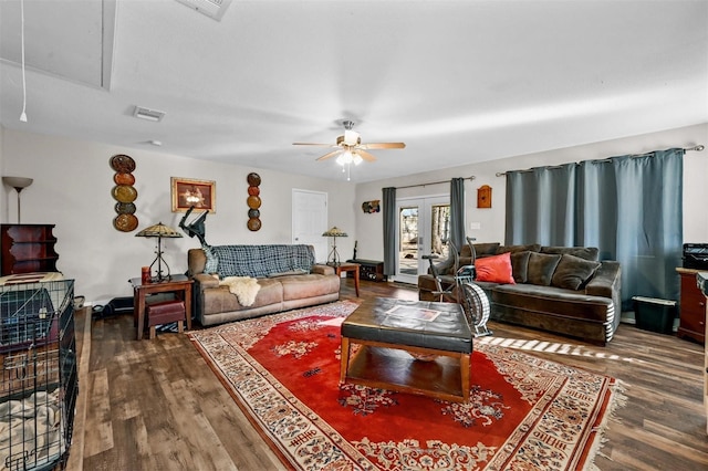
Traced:
POLYGON ((292 190, 292 243, 314 247, 317 262, 327 260, 327 193, 292 190))

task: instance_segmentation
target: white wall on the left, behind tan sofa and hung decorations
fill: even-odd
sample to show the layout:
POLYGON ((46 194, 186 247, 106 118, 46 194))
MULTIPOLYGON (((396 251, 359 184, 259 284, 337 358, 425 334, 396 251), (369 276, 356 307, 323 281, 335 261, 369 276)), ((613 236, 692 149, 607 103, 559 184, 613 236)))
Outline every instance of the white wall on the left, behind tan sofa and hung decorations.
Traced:
MULTIPOLYGON (((171 212, 170 177, 215 180, 216 214, 206 220, 207 242, 291 243, 292 188, 327 193, 330 226, 354 229, 355 187, 345 181, 293 176, 236 165, 207 163, 150 150, 136 151, 105 144, 55 136, 3 130, 0 145, 2 175, 31 177, 34 182, 22 191, 23 223, 54 223, 60 255, 58 269, 75 279, 75 294, 87 302, 104 303, 115 296, 132 295, 128 279, 139 276, 140 266, 155 258, 155 239, 135 234, 159 221, 178 229, 183 213, 171 212), (129 155, 136 161, 135 205, 138 229, 114 229, 116 201, 111 195, 114 170, 110 158, 129 155), (256 171, 261 176, 262 228, 248 230, 248 182, 256 171)), ((1 201, 9 201, 0 221, 17 222, 15 193, 2 187, 1 201)), ((178 229, 180 232, 181 230, 178 229)), ((341 253, 351 253, 354 238, 337 240, 341 253)), ((163 239, 165 260, 171 273, 187 269, 186 252, 199 247, 197 239, 163 239)), ((326 253, 317 259, 326 258, 326 253)))

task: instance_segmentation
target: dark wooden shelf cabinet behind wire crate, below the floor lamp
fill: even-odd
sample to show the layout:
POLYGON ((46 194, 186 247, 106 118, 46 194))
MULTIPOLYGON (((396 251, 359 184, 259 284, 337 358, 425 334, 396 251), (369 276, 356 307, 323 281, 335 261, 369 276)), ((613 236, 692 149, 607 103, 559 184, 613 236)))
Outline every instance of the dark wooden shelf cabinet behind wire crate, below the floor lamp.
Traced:
POLYGON ((2 275, 55 272, 54 224, 0 224, 2 275))

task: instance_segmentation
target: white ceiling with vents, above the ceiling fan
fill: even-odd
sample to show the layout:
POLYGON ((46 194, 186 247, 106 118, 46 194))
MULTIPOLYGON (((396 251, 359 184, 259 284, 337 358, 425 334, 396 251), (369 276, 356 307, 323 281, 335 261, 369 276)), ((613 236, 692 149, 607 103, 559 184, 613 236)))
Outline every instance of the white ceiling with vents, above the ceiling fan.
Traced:
POLYGON ((407 144, 352 169, 372 181, 708 123, 707 0, 231 0, 220 21, 176 0, 24 0, 24 20, 27 123, 20 1, 0 0, 2 126, 128 154, 343 179, 292 143, 334 144, 352 119, 407 144))

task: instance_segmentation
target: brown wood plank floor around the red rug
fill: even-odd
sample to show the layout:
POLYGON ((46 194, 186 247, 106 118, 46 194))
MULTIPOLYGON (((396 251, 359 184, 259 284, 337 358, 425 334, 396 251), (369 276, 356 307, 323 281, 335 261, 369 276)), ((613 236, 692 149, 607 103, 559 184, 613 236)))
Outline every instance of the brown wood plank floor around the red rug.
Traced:
MULTIPOLYGON (((364 304, 417 299, 412 287, 365 281, 361 294, 364 304)), ((343 280, 341 297, 356 299, 353 280, 343 280)), ((81 379, 69 469, 283 469, 187 335, 137 342, 132 316, 91 321, 88 310, 76 323, 81 379)), ((708 470, 702 345, 624 324, 606 347, 490 326, 489 342, 622 380, 626 405, 610 421, 601 470, 708 470)))

